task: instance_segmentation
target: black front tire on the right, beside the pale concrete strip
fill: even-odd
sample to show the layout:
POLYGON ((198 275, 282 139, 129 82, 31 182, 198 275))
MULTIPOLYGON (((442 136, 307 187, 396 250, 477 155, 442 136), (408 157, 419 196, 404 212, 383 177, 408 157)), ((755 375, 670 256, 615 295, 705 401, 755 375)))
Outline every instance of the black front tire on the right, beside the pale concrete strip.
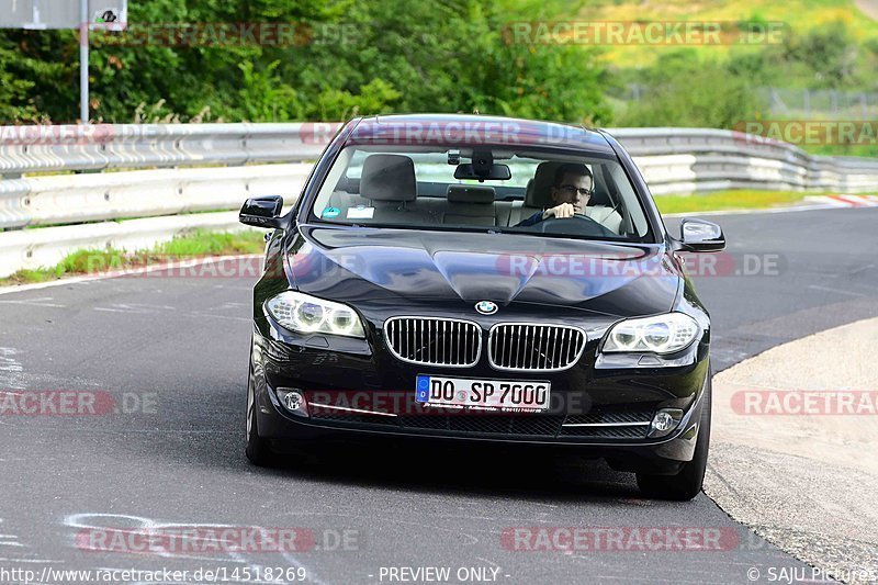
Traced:
POLYGON ((638 473, 638 486, 641 493, 655 499, 672 499, 685 502, 694 498, 701 492, 707 469, 707 454, 710 449, 710 398, 712 394, 711 371, 705 385, 705 395, 701 398, 701 421, 698 425, 698 440, 695 445, 693 460, 683 464, 683 469, 675 475, 650 475, 638 473))

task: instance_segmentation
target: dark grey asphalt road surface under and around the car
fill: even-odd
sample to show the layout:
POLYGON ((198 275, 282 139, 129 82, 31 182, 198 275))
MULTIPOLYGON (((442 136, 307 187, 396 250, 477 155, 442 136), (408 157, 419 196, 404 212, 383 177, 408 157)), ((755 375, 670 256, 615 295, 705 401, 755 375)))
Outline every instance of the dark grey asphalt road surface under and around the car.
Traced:
MULTIPOLYGON (((698 279, 718 369, 878 315, 878 210, 714 220, 725 228, 732 272, 755 270, 750 256, 770 267, 698 279)), ((633 476, 547 450, 369 441, 289 469, 248 465, 251 284, 122 278, 0 295, 0 390, 89 391, 99 412, 109 405, 106 416, 0 415, 0 571, 226 567, 230 575, 300 566, 312 583, 389 583, 387 567, 448 566, 452 583, 460 567, 486 567, 510 584, 700 584, 747 583, 753 566, 767 583, 768 567, 804 567, 703 495, 642 499, 633 476), (135 543, 112 538, 103 541, 112 551, 83 550, 101 542, 95 535, 122 533, 104 528, 166 525, 302 528, 322 550, 134 553, 135 543), (703 527, 738 539, 728 550, 685 552, 502 544, 505 529, 532 526, 703 527), (342 535, 349 550, 333 550, 342 535)), ((0 582, 15 580, 0 573, 0 582)))

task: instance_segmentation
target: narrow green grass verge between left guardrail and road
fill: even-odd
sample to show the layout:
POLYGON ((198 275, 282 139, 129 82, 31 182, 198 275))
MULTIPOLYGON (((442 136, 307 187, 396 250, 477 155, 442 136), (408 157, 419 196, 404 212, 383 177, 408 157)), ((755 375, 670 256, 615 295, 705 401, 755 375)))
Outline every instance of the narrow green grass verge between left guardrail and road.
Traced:
POLYGON ((260 254, 264 249, 264 232, 207 232, 195 229, 181 234, 153 248, 125 251, 114 248, 77 250, 67 255, 54 267, 35 270, 19 270, 0 279, 0 286, 46 282, 75 274, 90 274, 123 268, 157 265, 169 260, 182 260, 203 256, 235 254, 260 254))

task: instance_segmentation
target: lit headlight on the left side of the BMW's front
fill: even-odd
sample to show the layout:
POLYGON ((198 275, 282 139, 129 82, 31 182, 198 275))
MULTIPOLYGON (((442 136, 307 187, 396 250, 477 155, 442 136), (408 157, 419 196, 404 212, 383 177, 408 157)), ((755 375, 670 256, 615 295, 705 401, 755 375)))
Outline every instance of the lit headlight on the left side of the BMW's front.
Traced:
POLYGON ((360 317, 341 303, 286 291, 269 299, 266 307, 278 323, 293 331, 365 337, 360 317))

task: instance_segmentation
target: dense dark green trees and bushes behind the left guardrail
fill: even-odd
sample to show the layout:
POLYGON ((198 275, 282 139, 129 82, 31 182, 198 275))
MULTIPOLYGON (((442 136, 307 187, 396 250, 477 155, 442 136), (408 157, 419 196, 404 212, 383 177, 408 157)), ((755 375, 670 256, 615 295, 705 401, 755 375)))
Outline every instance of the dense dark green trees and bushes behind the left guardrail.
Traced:
MULTIPOLYGON (((543 4, 564 9, 554 0, 543 4)), ((142 32, 149 23, 293 22, 311 31, 312 42, 162 46, 133 31, 94 33, 92 116, 185 122, 209 112, 216 121, 283 122, 477 109, 608 122, 605 74, 594 50, 507 44, 505 7, 491 0, 138 0, 130 21, 142 32)), ((0 111, 10 119, 75 120, 77 52, 71 31, 0 31, 0 111), (16 52, 4 53, 7 46, 16 52)))

